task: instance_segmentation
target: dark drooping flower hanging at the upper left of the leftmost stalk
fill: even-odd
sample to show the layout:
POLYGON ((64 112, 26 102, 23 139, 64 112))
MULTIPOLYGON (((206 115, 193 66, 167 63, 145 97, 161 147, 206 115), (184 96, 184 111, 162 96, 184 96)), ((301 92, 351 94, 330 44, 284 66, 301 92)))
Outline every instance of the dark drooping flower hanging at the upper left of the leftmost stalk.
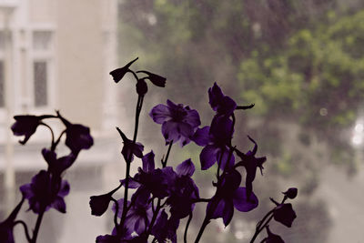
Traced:
POLYGON ((19 143, 25 145, 29 138, 35 133, 36 128, 42 124, 42 119, 53 116, 14 116, 15 123, 11 127, 15 136, 25 136, 23 140, 19 140, 19 143))

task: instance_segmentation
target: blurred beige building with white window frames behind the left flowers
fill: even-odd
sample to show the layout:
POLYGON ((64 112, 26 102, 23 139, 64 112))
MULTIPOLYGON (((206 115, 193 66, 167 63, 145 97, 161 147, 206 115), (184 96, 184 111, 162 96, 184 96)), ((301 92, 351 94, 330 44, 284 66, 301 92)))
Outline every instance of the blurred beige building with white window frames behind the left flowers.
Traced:
MULTIPOLYGON (((0 0, 0 221, 17 201, 17 187, 46 167, 40 151, 50 141, 49 131, 38 128, 27 145, 20 146, 19 137, 9 129, 13 116, 55 114, 55 109, 90 127, 95 138, 95 146, 81 152, 75 168, 67 172, 73 179, 66 198, 69 215, 85 208, 85 203, 81 211, 90 214, 90 192, 103 187, 104 164, 113 161, 119 150, 109 132, 115 130, 117 118, 116 89, 108 75, 116 67, 116 23, 117 0, 0 0)), ((40 232, 39 242, 94 238, 85 238, 82 232, 76 238, 73 229, 81 226, 68 222, 63 227, 60 222, 72 221, 72 216, 54 221, 56 214, 45 218, 47 229, 40 232), (60 228, 64 233, 56 232, 60 228), (45 231, 62 238, 47 238, 45 231)), ((82 227, 90 230, 92 225, 82 227)))

